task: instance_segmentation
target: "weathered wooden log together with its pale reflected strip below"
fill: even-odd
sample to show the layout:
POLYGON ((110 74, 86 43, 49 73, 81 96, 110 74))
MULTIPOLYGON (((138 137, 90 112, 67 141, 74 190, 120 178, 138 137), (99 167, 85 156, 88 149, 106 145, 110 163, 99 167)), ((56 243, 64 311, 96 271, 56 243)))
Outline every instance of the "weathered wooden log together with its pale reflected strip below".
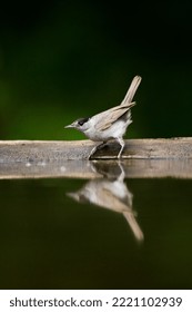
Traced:
MULTIPOLYGON (((93 146, 90 140, 0 142, 0 178, 119 175, 119 145, 109 143, 90 162, 93 146)), ((192 178, 192 138, 125 140, 121 164, 127 177, 192 178)))

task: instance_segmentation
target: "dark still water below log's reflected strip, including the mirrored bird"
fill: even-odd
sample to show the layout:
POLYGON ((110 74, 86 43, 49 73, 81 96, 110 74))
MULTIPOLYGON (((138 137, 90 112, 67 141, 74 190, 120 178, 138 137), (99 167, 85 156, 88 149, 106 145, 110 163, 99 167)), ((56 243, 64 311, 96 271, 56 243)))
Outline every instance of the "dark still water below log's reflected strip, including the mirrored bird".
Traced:
POLYGON ((1 289, 192 289, 192 179, 1 179, 1 289))

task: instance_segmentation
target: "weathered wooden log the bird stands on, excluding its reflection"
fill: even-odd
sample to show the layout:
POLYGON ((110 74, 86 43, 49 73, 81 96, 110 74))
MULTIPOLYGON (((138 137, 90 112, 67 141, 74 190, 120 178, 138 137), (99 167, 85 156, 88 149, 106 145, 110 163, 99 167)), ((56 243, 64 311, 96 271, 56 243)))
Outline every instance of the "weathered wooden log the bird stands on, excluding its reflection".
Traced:
MULTIPOLYGON (((87 159, 95 143, 91 140, 7 140, 0 142, 0 163, 39 163, 87 159)), ((119 144, 110 142, 97 150, 94 159, 115 159, 119 144)), ((192 138, 128 139, 122 159, 192 158, 192 138)))

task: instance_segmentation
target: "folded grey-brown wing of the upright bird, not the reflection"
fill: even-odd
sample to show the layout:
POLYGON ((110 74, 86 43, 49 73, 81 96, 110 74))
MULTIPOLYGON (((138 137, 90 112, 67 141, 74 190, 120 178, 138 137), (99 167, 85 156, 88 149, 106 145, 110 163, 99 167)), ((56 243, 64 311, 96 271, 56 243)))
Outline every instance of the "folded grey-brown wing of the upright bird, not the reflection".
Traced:
POLYGON ((119 105, 95 115, 95 129, 100 131, 108 129, 114 121, 117 121, 124 113, 127 113, 134 105, 134 101, 124 105, 119 105))

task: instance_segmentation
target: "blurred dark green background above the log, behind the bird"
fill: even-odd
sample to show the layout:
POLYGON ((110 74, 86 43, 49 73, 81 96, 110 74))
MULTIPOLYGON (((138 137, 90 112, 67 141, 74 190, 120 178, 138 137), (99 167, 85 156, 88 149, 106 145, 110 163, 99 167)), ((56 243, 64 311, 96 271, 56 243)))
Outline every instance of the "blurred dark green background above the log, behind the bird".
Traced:
POLYGON ((64 126, 143 80, 127 137, 191 136, 191 1, 12 1, 0 11, 0 139, 83 139, 64 126))

